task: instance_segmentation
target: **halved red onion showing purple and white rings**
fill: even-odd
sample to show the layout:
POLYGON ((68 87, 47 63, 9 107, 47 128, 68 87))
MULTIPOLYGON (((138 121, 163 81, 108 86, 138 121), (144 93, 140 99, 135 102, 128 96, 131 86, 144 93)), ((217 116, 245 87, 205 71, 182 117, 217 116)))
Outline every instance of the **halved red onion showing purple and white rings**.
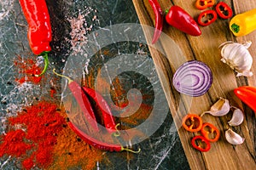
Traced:
POLYGON ((178 67, 172 84, 181 94, 201 96, 206 94, 212 85, 212 71, 201 61, 189 60, 178 67))

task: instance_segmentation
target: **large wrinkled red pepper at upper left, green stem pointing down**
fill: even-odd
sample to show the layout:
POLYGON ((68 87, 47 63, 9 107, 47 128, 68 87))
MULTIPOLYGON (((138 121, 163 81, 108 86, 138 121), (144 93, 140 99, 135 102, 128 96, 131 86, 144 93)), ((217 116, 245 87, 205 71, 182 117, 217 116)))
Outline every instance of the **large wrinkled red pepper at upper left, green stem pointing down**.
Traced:
POLYGON ((44 74, 49 65, 49 42, 52 37, 48 8, 45 0, 20 0, 20 6, 29 26, 27 37, 32 52, 44 57, 44 70, 36 75, 38 77, 44 74))

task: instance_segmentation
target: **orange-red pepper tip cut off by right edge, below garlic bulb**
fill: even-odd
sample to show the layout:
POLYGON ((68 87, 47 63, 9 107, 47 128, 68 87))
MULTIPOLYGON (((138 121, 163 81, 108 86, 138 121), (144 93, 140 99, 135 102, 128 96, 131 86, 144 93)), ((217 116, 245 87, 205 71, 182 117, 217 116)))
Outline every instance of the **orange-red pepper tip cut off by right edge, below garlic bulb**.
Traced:
POLYGON ((242 86, 234 89, 236 96, 256 113, 256 88, 242 86))

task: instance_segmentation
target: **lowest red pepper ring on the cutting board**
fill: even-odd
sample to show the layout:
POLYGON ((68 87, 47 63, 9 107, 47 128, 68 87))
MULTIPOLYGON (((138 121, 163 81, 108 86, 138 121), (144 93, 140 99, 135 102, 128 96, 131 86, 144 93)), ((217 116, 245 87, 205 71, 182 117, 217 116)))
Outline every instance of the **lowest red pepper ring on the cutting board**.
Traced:
POLYGON ((206 152, 211 149, 210 142, 203 136, 195 136, 191 140, 191 144, 195 150, 200 150, 202 152, 206 152))

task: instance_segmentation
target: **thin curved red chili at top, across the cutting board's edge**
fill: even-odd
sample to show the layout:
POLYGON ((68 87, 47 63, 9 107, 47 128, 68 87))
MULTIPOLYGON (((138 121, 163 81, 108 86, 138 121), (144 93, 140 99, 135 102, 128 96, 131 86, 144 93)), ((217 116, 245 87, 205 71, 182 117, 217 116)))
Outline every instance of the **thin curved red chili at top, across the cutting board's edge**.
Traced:
POLYGON ((164 25, 164 14, 162 12, 162 9, 160 8, 160 4, 157 0, 148 0, 149 4, 154 10, 154 16, 155 16, 155 29, 154 29, 154 37, 152 40, 152 43, 156 42, 159 37, 160 33, 162 31, 163 25, 164 25))

